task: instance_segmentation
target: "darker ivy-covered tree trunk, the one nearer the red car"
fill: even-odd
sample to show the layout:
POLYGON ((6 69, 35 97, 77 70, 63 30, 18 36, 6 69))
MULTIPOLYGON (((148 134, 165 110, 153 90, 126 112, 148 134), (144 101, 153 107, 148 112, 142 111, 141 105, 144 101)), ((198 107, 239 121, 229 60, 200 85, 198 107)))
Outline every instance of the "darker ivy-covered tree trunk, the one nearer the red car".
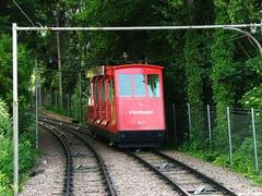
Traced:
POLYGON ((204 138, 204 120, 199 113, 203 107, 203 81, 201 69, 201 53, 198 50, 200 41, 198 34, 188 29, 186 34, 184 44, 184 59, 186 59, 186 81, 187 81, 187 97, 192 111, 192 130, 190 132, 190 139, 194 142, 196 146, 202 144, 200 138, 204 138))

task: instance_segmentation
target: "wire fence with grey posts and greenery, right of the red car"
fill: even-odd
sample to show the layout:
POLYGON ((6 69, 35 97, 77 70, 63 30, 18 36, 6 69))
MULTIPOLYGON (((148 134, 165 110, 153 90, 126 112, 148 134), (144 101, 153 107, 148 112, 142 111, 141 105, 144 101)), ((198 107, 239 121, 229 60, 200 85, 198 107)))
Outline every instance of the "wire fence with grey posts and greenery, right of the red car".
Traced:
POLYGON ((177 138, 182 134, 191 147, 224 157, 231 168, 262 171, 261 110, 227 107, 217 120, 218 111, 212 106, 172 108, 177 138))

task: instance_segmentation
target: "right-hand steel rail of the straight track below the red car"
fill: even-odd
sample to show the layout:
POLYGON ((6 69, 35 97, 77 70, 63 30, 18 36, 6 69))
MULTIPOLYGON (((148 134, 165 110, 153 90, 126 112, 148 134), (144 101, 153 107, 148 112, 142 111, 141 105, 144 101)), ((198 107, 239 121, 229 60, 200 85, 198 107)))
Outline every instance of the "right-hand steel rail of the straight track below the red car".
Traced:
POLYGON ((217 186, 218 188, 221 188, 226 195, 237 196, 237 194, 234 193, 228 187, 222 185, 221 183, 216 182, 215 180, 211 179, 210 176, 207 176, 207 175, 205 175, 205 174, 194 170, 193 168, 189 167, 188 164, 184 164, 183 162, 180 162, 180 161, 178 161, 178 160, 176 160, 176 159, 174 159, 174 158, 171 158, 171 157, 169 157, 169 156, 167 156, 167 155, 165 155, 165 154, 163 154, 160 151, 153 151, 153 152, 158 155, 159 157, 163 157, 163 158, 165 158, 165 159, 167 159, 167 160, 169 160, 169 161, 171 161, 171 162, 174 162, 174 163, 184 168, 186 170, 189 170, 190 172, 192 172, 193 174, 200 176, 201 179, 206 180, 209 183, 211 183, 211 184, 217 186))

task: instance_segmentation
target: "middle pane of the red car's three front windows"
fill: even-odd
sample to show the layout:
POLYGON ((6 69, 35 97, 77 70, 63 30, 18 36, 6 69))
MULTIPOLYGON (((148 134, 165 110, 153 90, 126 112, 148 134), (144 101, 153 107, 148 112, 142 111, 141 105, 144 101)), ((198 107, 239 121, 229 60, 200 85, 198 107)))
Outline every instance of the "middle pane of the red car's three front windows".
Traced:
POLYGON ((134 97, 145 97, 145 75, 133 74, 133 95, 134 97))

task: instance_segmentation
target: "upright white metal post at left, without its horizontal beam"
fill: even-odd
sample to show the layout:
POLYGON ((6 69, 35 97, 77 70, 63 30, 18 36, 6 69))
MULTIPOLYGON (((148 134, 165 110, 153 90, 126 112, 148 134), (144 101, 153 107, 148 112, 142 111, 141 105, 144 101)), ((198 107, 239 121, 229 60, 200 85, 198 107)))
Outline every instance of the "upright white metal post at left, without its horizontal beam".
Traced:
POLYGON ((12 26, 13 37, 13 192, 19 195, 19 101, 17 101, 17 32, 12 26))

